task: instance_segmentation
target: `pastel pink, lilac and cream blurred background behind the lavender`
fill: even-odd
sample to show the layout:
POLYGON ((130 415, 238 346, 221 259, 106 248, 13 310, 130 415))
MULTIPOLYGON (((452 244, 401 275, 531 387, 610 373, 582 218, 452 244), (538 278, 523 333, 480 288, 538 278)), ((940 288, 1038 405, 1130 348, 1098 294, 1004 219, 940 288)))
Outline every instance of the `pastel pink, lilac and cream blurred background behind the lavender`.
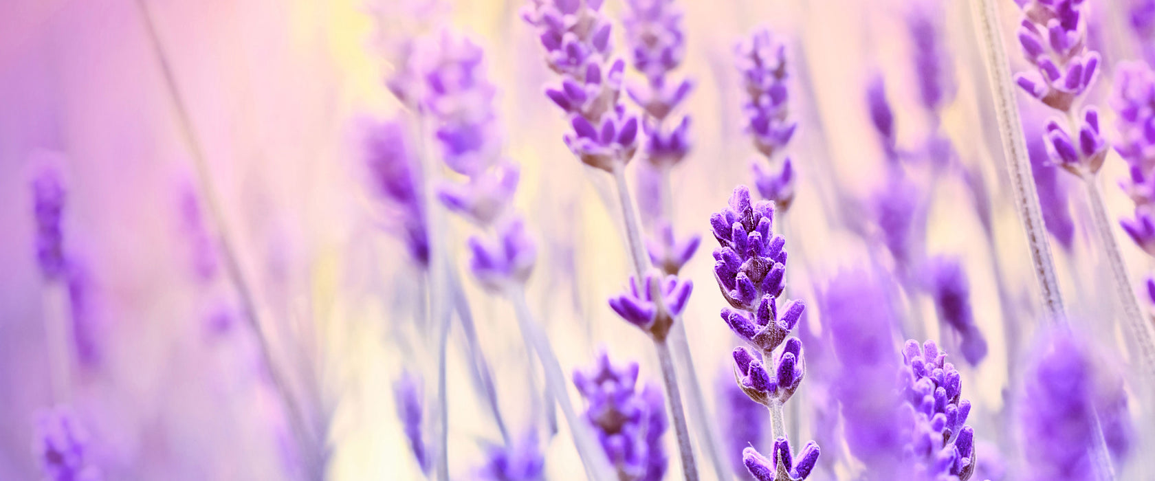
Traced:
MULTIPOLYGON (((970 7, 924 3, 939 22, 951 91, 939 113, 919 104, 910 2, 677 1, 686 35, 677 72, 695 88, 680 107, 693 119, 693 149, 672 171, 672 224, 679 235, 705 238, 681 271, 696 286, 683 318, 709 412, 723 408, 709 392, 730 378, 738 344, 717 316, 725 301, 713 279, 709 216, 735 186, 752 186, 757 158, 744 133, 735 45, 768 27, 789 45, 790 112, 799 122, 789 149, 797 195, 778 220, 791 258, 789 296, 807 300, 820 318, 819 298, 832 276, 867 264, 903 276, 886 248, 886 227, 870 213, 888 189, 886 145, 867 103, 867 85, 881 82, 896 144, 915 152, 914 179, 937 175, 936 160, 918 152, 940 127, 953 145, 946 168, 959 175, 937 179, 915 203, 926 219, 917 242, 925 253, 956 256, 969 275, 974 320, 988 343, 981 362, 962 368, 955 361, 967 397, 982 406, 971 423, 992 445, 1015 443, 993 414, 1004 403, 1008 366, 1019 361, 1008 358, 1015 350, 1005 326, 1019 325, 1014 343, 1029 344, 1041 313, 1037 283, 970 7)), ((1013 70, 1023 69, 1013 35, 1019 9, 1009 0, 997 3, 1013 70)), ((485 52, 504 153, 522 167, 516 208, 538 245, 529 305, 562 369, 591 366, 604 346, 616 360, 638 360, 642 378, 657 379, 644 335, 605 303, 629 275, 612 179, 561 142, 569 127, 543 95, 553 74, 522 7, 516 0, 0 3, 0 479, 44 475, 37 413, 61 404, 85 427, 88 459, 105 479, 297 479, 308 454, 295 444, 291 409, 307 413, 311 431, 325 439, 326 479, 422 479, 393 385, 408 370, 424 375, 431 391, 435 352, 415 321, 425 308, 422 273, 382 227, 359 126, 407 115, 385 87, 398 68, 396 46, 439 29, 465 35, 485 52), (61 231, 73 265, 66 281, 45 279, 37 264, 32 180, 45 166, 65 190, 61 231), (222 253, 222 236, 231 254, 222 253), (246 299, 255 313, 244 310, 246 299), (67 336, 53 339, 52 325, 67 336), (60 377, 53 356, 67 363, 64 389, 53 386, 60 377), (270 362, 282 374, 270 371, 270 362), (284 390, 295 406, 284 403, 284 390)), ((624 8, 611 0, 603 12, 617 22, 624 8)), ((1086 103, 1102 106, 1105 126, 1113 125, 1105 100, 1111 66, 1139 58, 1142 45, 1130 33, 1128 8, 1120 1, 1090 9, 1088 42, 1103 68, 1086 103)), ((617 24, 613 35, 620 45, 617 24)), ((1016 95, 1030 141, 1050 113, 1016 95)), ((1082 185, 1045 168, 1057 172, 1050 175, 1061 194, 1055 221, 1071 225, 1050 238, 1070 317, 1104 346, 1109 362, 1126 366, 1132 347, 1116 321, 1104 248, 1086 228, 1082 185)), ((633 165, 628 173, 633 179, 633 165)), ((1110 151, 1100 179, 1112 219, 1131 210, 1116 187, 1125 175, 1110 151)), ((471 226, 448 218, 444 232, 500 411, 522 426, 535 394, 513 310, 468 276, 471 226)), ((1117 226, 1115 236, 1139 286, 1150 257, 1117 226)), ((896 303, 925 320, 927 338, 952 350, 952 338, 932 322, 932 296, 902 294, 896 303)), ((499 439, 465 345, 463 332, 452 330, 455 478, 483 463, 485 446, 499 439)), ((1131 411, 1149 420, 1134 401, 1131 411)), ((564 422, 560 429, 567 431, 564 422)), ((672 434, 666 443, 675 452, 672 434)), ((545 449, 549 479, 581 479, 568 436, 545 449)), ((1133 449, 1152 452, 1142 438, 1133 449)), ((676 458, 671 479, 679 473, 676 458)), ((1127 466, 1120 479, 1150 479, 1141 464, 1127 466)))

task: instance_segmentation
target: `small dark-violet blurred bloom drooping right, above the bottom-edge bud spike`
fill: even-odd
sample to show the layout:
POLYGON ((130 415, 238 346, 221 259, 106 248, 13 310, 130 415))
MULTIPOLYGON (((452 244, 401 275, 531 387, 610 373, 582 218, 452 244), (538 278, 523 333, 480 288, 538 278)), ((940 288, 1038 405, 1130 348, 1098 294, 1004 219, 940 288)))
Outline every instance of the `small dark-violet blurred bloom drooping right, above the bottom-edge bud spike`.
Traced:
POLYGON ((986 339, 975 325, 970 308, 970 280, 957 257, 937 256, 927 261, 927 283, 939 320, 962 338, 962 356, 977 366, 986 356, 986 339))

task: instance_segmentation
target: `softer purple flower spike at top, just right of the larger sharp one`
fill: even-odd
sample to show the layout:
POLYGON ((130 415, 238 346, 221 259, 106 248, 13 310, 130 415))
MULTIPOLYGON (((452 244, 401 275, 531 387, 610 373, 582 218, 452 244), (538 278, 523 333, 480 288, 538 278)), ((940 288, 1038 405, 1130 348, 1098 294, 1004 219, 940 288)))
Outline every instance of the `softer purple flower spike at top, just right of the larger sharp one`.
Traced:
POLYGON ((693 90, 688 80, 669 77, 686 53, 683 14, 673 0, 628 0, 626 7, 623 24, 631 63, 646 77, 644 84, 629 85, 626 92, 648 114, 646 159, 656 167, 670 167, 690 151, 690 118, 666 122, 693 90), (675 127, 666 128, 671 123, 675 127))

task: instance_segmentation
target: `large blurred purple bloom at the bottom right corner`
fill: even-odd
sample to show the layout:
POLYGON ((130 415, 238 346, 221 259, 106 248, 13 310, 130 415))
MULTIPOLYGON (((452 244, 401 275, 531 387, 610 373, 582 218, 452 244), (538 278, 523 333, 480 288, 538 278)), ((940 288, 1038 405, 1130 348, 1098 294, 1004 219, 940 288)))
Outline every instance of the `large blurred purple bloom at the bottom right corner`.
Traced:
POLYGON ((1095 479, 1096 422, 1108 449, 1116 456, 1125 453, 1131 436, 1126 394, 1120 393, 1119 377, 1104 367, 1091 347, 1070 331, 1043 335, 1019 408, 1023 452, 1030 463, 1027 479, 1095 479))

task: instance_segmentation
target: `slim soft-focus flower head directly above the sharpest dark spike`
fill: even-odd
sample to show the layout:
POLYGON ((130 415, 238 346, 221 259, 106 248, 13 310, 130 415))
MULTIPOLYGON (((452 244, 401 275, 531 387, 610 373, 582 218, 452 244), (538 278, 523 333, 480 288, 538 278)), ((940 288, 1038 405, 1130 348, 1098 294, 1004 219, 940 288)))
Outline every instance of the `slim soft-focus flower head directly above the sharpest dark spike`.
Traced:
POLYGON ((743 105, 746 131, 754 146, 770 158, 785 146, 798 127, 789 117, 785 44, 767 29, 754 31, 736 48, 747 99, 743 105))

